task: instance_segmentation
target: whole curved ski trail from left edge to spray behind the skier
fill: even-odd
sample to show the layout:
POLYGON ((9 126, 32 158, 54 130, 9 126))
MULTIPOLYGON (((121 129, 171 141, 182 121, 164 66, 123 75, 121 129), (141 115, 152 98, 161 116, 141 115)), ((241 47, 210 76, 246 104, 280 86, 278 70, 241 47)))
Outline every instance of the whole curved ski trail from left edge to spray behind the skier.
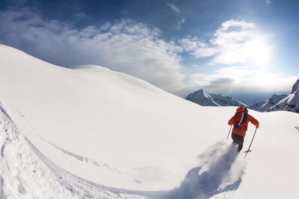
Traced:
MULTIPOLYGON (((116 189, 84 180, 55 165, 19 132, 3 107, 0 132, 0 198, 231 198, 247 164, 233 144, 219 141, 198 156, 201 166, 191 169, 173 190, 116 189)), ((49 144, 79 160, 109 166, 49 144)))

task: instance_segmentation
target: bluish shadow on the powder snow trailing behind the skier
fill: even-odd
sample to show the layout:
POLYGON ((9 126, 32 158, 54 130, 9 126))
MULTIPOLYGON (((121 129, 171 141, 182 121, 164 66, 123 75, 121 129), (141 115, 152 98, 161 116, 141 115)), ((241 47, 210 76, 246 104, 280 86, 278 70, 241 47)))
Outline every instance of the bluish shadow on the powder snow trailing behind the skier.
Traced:
MULTIPOLYGON (((178 188, 154 197, 167 199, 210 198, 222 192, 237 190, 242 182, 242 172, 237 172, 238 174, 235 175, 230 170, 239 153, 237 153, 235 145, 231 144, 213 158, 213 153, 215 155, 219 144, 221 143, 215 144, 212 151, 201 155, 210 156, 212 160, 207 160, 204 165, 191 169, 178 188)), ((242 167, 242 165, 239 166, 242 167)))

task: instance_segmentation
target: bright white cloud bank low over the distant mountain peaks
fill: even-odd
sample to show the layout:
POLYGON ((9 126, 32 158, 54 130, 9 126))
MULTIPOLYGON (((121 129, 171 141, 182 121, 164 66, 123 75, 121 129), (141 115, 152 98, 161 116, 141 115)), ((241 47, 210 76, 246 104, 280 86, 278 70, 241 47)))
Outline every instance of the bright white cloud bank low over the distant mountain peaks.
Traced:
POLYGON ((228 96, 237 91, 240 94, 269 93, 269 97, 277 91, 284 92, 276 94, 288 94, 296 79, 298 76, 284 77, 283 74, 239 66, 219 68, 212 73, 197 73, 188 77, 194 91, 204 88, 210 93, 228 96))

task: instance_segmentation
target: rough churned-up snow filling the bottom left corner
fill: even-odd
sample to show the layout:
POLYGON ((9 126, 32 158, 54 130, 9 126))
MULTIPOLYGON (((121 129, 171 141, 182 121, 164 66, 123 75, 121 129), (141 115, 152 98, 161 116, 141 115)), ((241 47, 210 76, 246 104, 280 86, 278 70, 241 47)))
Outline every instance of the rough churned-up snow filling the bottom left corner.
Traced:
POLYGON ((89 182, 55 165, 18 131, 3 111, 0 132, 0 198, 144 198, 89 182))

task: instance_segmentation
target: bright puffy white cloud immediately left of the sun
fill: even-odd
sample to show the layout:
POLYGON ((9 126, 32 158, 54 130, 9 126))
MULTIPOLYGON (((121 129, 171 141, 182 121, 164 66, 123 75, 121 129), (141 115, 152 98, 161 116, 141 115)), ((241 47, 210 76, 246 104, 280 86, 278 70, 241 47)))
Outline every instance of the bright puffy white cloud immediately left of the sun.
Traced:
POLYGON ((252 39, 253 29, 252 23, 230 20, 222 23, 208 41, 195 37, 180 42, 197 58, 214 56, 210 65, 242 63, 250 56, 247 45, 252 39))

